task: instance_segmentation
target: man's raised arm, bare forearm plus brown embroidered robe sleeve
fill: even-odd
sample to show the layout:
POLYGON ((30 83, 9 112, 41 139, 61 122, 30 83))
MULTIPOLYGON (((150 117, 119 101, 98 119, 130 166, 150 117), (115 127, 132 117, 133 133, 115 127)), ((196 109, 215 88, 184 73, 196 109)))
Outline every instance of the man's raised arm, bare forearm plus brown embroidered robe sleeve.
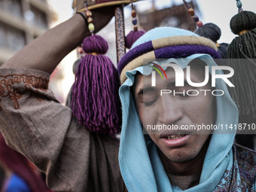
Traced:
MULTIPOLYGON (((93 11, 96 30, 112 15, 114 8, 93 11)), ((86 35, 87 24, 77 14, 5 62, 0 69, 0 132, 47 175, 53 191, 123 191, 118 141, 90 133, 47 88, 49 73, 86 35)))

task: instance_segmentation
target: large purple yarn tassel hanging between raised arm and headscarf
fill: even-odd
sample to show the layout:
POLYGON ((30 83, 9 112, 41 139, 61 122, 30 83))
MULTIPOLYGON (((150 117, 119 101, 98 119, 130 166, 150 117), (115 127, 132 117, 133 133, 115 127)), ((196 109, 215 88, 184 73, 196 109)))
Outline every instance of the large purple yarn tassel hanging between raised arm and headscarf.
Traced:
POLYGON ((94 133, 115 136, 120 132, 120 80, 108 56, 108 43, 99 35, 84 39, 87 53, 78 65, 72 87, 72 111, 94 133))

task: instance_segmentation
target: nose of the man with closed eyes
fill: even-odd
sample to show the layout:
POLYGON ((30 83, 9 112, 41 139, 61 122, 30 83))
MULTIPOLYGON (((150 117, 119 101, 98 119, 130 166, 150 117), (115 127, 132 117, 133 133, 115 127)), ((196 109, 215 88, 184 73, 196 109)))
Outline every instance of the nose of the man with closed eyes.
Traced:
POLYGON ((175 124, 183 117, 182 101, 175 96, 161 96, 158 120, 160 123, 175 124))

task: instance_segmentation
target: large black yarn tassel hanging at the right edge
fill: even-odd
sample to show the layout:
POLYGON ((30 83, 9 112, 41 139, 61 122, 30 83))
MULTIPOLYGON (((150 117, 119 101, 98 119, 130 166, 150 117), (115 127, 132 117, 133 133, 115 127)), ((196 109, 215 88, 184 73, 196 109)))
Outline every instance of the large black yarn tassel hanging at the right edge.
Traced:
POLYGON ((239 107, 240 116, 256 118, 256 14, 243 11, 230 20, 233 33, 239 34, 230 43, 227 55, 233 60, 228 62, 235 75, 232 81, 235 88, 230 89, 230 95, 239 107), (248 59, 244 62, 238 59, 248 59))

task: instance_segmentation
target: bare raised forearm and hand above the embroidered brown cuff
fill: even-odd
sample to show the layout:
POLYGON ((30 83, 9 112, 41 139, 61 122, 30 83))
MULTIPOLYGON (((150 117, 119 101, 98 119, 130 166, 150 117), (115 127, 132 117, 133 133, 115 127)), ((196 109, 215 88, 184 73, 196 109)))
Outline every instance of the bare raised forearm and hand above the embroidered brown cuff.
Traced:
MULTIPOLYGON (((114 8, 93 11, 96 31, 102 29, 113 15, 114 8)), ((78 47, 83 38, 88 35, 90 32, 87 29, 87 23, 81 15, 76 14, 26 45, 0 68, 39 69, 51 73, 58 63, 78 47)))

